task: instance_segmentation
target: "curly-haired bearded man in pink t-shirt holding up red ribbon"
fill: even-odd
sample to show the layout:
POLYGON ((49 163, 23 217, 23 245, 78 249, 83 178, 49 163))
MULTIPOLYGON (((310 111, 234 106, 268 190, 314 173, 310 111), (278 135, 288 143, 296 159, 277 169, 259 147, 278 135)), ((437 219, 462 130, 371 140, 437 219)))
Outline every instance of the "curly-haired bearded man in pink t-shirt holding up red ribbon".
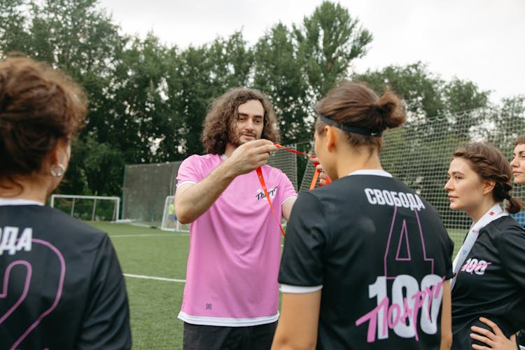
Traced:
POLYGON ((255 169, 261 167, 279 221, 297 193, 281 170, 276 118, 265 94, 233 88, 204 120, 206 155, 184 160, 175 212, 190 225, 190 255, 179 313, 184 349, 269 349, 279 317, 281 234, 255 169))

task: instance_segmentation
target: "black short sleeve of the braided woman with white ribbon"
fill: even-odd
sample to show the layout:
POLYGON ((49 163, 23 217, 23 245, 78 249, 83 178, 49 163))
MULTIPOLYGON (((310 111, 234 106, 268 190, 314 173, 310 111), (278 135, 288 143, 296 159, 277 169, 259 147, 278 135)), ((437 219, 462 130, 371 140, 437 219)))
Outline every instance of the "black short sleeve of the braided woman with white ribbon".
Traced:
POLYGON ((525 290, 525 230, 512 226, 499 236, 500 259, 514 281, 525 290))

